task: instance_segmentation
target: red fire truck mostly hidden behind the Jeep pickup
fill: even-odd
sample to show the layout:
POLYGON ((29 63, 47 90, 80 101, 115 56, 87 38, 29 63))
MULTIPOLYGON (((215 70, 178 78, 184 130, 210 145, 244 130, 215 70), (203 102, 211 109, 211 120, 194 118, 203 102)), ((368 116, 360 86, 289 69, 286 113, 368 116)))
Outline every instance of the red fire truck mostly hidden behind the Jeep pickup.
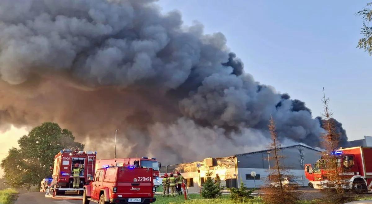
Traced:
POLYGON ((153 169, 154 186, 160 185, 159 168, 161 163, 156 158, 142 157, 142 158, 121 158, 121 159, 97 159, 96 169, 103 168, 103 166, 117 166, 117 167, 141 167, 153 169))

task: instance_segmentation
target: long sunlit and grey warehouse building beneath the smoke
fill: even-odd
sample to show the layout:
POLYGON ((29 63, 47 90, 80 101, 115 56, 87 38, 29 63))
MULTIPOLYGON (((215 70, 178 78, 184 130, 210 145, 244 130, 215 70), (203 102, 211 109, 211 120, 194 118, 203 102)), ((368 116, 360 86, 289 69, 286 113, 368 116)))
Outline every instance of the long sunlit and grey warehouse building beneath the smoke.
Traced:
MULTIPOLYGON (((298 184, 307 186, 309 181, 305 178, 304 165, 314 164, 320 158, 320 151, 304 145, 282 147, 279 151, 285 157, 282 160, 285 167, 297 178, 298 184)), ((266 170, 269 165, 274 166, 274 161, 270 161, 269 164, 267 159, 268 155, 272 153, 272 150, 268 149, 237 154, 231 157, 206 158, 203 161, 164 166, 160 168, 160 172, 179 171, 187 180, 188 190, 191 193, 199 192, 199 186, 203 185, 205 173, 208 169, 213 173, 212 178, 218 174, 221 178, 221 185, 226 187, 240 187, 240 180, 247 187, 253 188, 255 185, 260 187, 265 184, 263 179, 268 175, 266 170), (198 168, 199 166, 200 168, 198 168), (252 171, 257 174, 255 178, 251 176, 252 171)))

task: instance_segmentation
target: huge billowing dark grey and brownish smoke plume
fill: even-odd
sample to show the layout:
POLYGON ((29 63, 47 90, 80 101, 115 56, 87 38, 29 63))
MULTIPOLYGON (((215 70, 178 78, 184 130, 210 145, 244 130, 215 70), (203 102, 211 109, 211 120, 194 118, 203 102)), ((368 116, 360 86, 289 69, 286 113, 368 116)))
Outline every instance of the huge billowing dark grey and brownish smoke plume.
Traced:
POLYGON ((318 147, 323 131, 244 73, 222 33, 148 0, 1 0, 0 76, 2 130, 58 122, 100 158, 115 129, 120 157, 169 163, 263 149, 270 115, 285 144, 318 147))

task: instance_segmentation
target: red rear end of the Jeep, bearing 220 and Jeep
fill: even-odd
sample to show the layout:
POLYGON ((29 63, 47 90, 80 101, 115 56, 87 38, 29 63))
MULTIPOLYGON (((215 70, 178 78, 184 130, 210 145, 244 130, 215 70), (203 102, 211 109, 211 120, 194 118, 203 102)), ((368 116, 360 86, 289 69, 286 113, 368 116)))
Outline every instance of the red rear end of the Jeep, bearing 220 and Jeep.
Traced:
POLYGON ((122 198, 153 197, 153 185, 151 168, 118 168, 116 195, 122 198))

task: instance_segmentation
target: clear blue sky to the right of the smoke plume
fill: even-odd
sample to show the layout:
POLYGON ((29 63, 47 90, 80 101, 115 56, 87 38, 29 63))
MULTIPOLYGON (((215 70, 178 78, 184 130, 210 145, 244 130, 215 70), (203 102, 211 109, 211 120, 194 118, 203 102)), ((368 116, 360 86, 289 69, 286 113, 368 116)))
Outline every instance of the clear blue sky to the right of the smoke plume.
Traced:
POLYGON ((372 57, 357 49, 362 19, 354 13, 368 1, 160 0, 164 12, 179 10, 185 24, 198 20, 205 33, 225 34, 247 73, 315 116, 322 88, 334 118, 349 140, 372 136, 372 57))

